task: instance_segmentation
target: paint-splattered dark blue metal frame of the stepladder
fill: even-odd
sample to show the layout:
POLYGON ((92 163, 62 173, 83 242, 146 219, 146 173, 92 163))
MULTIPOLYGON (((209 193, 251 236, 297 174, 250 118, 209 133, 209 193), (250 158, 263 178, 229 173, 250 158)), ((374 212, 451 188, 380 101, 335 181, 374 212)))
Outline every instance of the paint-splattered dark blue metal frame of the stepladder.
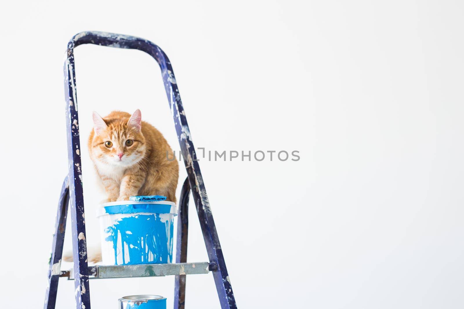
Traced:
MULTIPOLYGON (((81 32, 76 34, 68 43, 66 59, 64 60, 64 92, 66 103, 66 120, 67 120, 67 139, 68 139, 68 159, 69 172, 65 177, 63 187, 58 202, 58 213, 55 224, 55 234, 53 236, 52 256, 50 260, 50 269, 48 273, 48 287, 45 296, 45 309, 54 309, 56 296, 58 292, 59 277, 70 278, 73 275, 76 295, 77 309, 90 309, 90 287, 89 274, 98 276, 98 266, 89 267, 87 264, 87 244, 85 234, 85 217, 84 217, 84 194, 82 187, 82 164, 80 155, 79 142, 79 121, 77 118, 77 90, 76 74, 74 69, 74 48, 81 44, 97 44, 116 48, 127 48, 142 50, 155 58, 161 68, 161 74, 168 95, 169 107, 174 118, 174 124, 177 137, 180 143, 180 149, 184 158, 185 167, 188 177, 183 184, 178 216, 178 233, 177 233, 177 251, 176 263, 185 263, 187 265, 187 228, 188 228, 188 200, 190 191, 200 219, 200 226, 205 240, 206 251, 208 252, 209 264, 203 273, 211 271, 219 296, 219 302, 222 309, 237 308, 235 298, 232 292, 232 286, 226 269, 226 263, 219 244, 219 237, 213 220, 213 214, 206 195, 205 184, 201 177, 200 166, 195 158, 192 138, 185 117, 184 108, 180 101, 179 89, 174 77, 174 71, 168 57, 161 48, 152 42, 132 36, 108 33, 108 32, 81 32), (64 230, 68 212, 68 202, 71 202, 71 228, 72 228, 72 248, 74 258, 74 268, 71 271, 61 271, 61 258, 64 243, 64 230)), ((146 267, 147 265, 140 265, 146 267)), ((161 267, 161 276, 163 275, 163 265, 161 267)), ((166 267, 176 265, 167 265, 166 267)), ((182 271, 171 270, 175 274, 174 288, 174 309, 183 309, 185 306, 185 283, 186 275, 184 266, 182 271)), ((105 267, 105 266, 100 266, 105 267)), ((109 266, 107 266, 109 267, 109 266)), ((116 271, 123 271, 123 266, 111 266, 113 268, 121 267, 116 271)), ((150 266, 151 267, 151 266, 150 266)), ((194 269, 195 265, 193 265, 194 269)), ((102 272, 103 268, 100 272, 102 272)), ((111 271, 111 269, 107 269, 111 271)), ((191 269, 192 270, 192 269, 191 269)), ((153 271, 152 271, 153 272, 153 271)), ((118 274, 120 272, 116 272, 118 274)), ((191 272, 200 273, 200 272, 191 272)), ((150 274, 157 276, 160 274, 150 274)), ((117 275, 113 276, 117 277, 117 275)), ((131 277, 131 276, 129 276, 131 277)))

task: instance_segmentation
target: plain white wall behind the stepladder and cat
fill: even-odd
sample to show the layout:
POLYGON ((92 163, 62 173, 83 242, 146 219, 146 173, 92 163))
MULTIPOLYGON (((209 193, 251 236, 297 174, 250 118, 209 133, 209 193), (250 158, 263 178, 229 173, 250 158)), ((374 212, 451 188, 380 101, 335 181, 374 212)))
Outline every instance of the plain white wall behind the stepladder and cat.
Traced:
MULTIPOLYGON (((4 300, 43 306, 67 171, 63 55, 75 33, 97 30, 166 51, 197 147, 300 151, 298 162, 200 161, 239 308, 463 308, 463 8, 412 0, 2 4, 4 300)), ((90 45, 75 56, 81 145, 92 110, 140 108, 179 148, 155 61, 90 45)), ((87 238, 97 246, 102 195, 82 153, 87 238)), ((180 183, 185 177, 181 169, 180 183)), ((207 259, 195 215, 191 206, 192 262, 207 259)), ((173 287, 174 277, 92 280, 92 308, 144 293, 167 296, 171 308, 173 287)), ((57 308, 73 306, 73 283, 62 279, 57 308)), ((211 275, 187 278, 187 306, 219 308, 211 275)))

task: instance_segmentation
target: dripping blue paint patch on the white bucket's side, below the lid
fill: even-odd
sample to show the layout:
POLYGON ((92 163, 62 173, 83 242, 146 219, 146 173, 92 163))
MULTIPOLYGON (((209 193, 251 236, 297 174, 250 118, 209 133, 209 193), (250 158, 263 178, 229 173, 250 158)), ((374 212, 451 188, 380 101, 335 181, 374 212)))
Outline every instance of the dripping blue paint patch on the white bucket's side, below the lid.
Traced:
POLYGON ((172 261, 172 246, 169 246, 168 241, 174 235, 174 225, 169 225, 168 220, 162 222, 160 214, 138 214, 118 219, 105 232, 110 234, 105 240, 113 242, 116 265, 118 253, 122 254, 122 265, 163 264, 168 263, 168 259, 172 261), (119 238, 122 241, 121 252, 118 252, 119 238), (129 256, 125 254, 126 246, 129 256))

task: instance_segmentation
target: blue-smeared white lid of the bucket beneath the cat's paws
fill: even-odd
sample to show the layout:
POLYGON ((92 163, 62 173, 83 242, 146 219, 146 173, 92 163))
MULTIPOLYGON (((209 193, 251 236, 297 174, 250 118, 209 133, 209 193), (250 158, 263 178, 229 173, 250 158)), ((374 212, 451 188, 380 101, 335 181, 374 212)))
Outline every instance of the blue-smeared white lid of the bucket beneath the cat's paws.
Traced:
POLYGON ((108 202, 97 209, 97 217, 105 214, 135 214, 135 213, 153 213, 153 214, 174 214, 177 215, 177 208, 174 202, 134 202, 119 201, 108 202))

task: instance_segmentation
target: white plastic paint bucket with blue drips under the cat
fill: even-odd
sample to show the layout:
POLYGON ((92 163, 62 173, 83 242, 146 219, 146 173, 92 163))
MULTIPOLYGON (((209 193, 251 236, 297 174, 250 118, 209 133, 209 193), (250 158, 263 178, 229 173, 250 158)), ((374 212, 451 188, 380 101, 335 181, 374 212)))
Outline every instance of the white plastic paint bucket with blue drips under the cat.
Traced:
POLYGON ((104 265, 163 264, 173 260, 173 202, 109 202, 98 208, 104 265))

